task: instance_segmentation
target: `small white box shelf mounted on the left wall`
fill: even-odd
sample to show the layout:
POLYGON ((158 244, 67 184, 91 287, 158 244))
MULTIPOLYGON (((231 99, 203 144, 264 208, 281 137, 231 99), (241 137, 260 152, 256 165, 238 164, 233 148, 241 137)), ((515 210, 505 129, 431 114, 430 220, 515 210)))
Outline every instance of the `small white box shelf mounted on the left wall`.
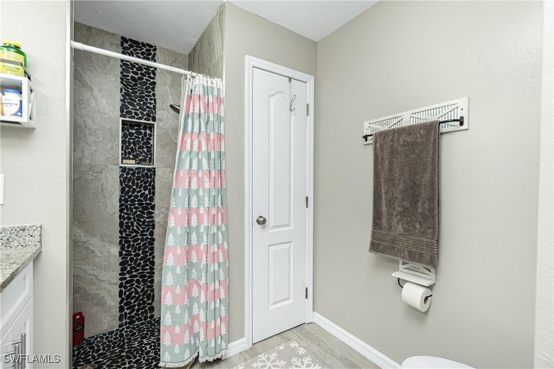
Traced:
POLYGON ((5 127, 23 127, 35 128, 35 90, 33 84, 27 77, 13 76, 0 73, 0 87, 4 89, 14 89, 21 91, 22 96, 22 116, 0 116, 2 126, 5 127))

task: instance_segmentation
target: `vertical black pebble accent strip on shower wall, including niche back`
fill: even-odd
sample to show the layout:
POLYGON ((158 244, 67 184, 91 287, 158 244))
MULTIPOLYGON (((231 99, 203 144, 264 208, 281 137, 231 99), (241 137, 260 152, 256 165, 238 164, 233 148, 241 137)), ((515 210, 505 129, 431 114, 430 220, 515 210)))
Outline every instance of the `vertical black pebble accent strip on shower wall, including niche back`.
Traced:
MULTIPOLYGON (((121 37, 122 54, 156 61, 156 52, 154 45, 121 37)), ((120 117, 156 122, 156 68, 121 60, 120 82, 120 117)), ((153 125, 122 122, 122 160, 152 165, 153 152, 153 125)), ((120 328, 154 318, 155 178, 155 168, 120 167, 120 328)))

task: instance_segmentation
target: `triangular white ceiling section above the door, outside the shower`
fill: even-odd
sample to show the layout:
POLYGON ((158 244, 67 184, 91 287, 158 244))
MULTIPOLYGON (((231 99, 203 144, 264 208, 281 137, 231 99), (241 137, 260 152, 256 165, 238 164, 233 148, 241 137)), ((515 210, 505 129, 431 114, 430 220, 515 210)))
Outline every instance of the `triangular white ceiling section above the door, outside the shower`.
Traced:
POLYGON ((377 0, 230 2, 304 37, 319 41, 356 18, 377 0))

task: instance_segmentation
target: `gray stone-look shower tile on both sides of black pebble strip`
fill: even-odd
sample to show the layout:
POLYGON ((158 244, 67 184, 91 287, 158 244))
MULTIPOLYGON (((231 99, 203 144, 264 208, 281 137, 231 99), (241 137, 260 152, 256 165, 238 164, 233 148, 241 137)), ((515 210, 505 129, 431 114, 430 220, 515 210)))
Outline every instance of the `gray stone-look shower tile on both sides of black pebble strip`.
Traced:
MULTIPOLYGON (((74 40, 121 53, 120 35, 75 23, 74 40)), ((73 310, 83 311, 86 336, 119 325, 120 61, 74 52, 73 310)), ((188 69, 188 56, 157 48, 158 63, 188 69)), ((171 196, 181 75, 156 72, 155 316, 171 196)))

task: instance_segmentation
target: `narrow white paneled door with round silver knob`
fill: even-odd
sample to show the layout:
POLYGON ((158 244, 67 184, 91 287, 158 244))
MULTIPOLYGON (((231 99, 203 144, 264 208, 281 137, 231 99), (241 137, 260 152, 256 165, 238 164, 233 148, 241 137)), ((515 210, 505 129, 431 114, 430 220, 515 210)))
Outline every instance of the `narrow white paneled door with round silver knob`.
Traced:
POLYGON ((255 68, 253 342, 305 322, 307 86, 255 68))

